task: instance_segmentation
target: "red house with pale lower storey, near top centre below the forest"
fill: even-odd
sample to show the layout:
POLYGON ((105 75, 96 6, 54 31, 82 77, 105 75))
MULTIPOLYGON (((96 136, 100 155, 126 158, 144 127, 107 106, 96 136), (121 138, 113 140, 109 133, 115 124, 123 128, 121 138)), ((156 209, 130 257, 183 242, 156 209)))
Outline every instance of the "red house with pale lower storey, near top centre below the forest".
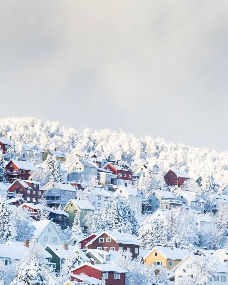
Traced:
POLYGON ((107 163, 103 168, 117 175, 117 185, 132 185, 133 171, 126 164, 119 164, 117 161, 115 164, 107 163))

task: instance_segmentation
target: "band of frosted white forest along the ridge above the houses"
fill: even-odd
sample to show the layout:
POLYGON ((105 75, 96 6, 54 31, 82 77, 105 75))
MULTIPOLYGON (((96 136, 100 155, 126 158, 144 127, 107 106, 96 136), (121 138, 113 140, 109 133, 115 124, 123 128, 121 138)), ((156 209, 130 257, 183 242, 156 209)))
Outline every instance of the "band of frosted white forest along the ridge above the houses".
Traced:
POLYGON ((220 189, 228 182, 228 152, 218 153, 208 148, 167 143, 163 138, 150 136, 136 138, 124 130, 92 131, 86 128, 80 133, 74 128, 60 127, 59 122, 42 122, 33 117, 8 117, 0 120, 0 136, 11 136, 12 140, 25 140, 42 148, 56 147, 67 153, 67 162, 76 152, 94 152, 97 156, 122 160, 133 170, 141 162, 151 161, 156 162, 164 172, 172 167, 183 169, 193 179, 213 173, 220 189))

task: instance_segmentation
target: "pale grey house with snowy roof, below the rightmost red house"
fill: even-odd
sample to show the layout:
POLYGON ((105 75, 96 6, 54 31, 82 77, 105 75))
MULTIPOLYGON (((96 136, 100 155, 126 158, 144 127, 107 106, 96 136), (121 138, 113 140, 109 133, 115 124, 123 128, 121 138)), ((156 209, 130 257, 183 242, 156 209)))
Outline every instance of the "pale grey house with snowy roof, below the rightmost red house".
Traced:
POLYGON ((205 201, 201 198, 200 194, 190 191, 181 190, 175 197, 175 199, 182 201, 183 204, 189 208, 204 213, 205 201))

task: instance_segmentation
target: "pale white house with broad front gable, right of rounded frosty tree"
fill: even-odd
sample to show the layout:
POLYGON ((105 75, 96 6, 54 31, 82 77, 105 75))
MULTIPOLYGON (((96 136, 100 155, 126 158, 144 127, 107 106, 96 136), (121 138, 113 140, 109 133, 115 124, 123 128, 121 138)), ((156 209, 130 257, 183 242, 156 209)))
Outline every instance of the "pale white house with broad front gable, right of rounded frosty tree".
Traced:
POLYGON ((66 243, 63 236, 59 233, 55 227, 53 221, 34 221, 32 222, 33 226, 36 227, 31 241, 35 243, 40 243, 43 247, 46 244, 63 244, 66 243))

